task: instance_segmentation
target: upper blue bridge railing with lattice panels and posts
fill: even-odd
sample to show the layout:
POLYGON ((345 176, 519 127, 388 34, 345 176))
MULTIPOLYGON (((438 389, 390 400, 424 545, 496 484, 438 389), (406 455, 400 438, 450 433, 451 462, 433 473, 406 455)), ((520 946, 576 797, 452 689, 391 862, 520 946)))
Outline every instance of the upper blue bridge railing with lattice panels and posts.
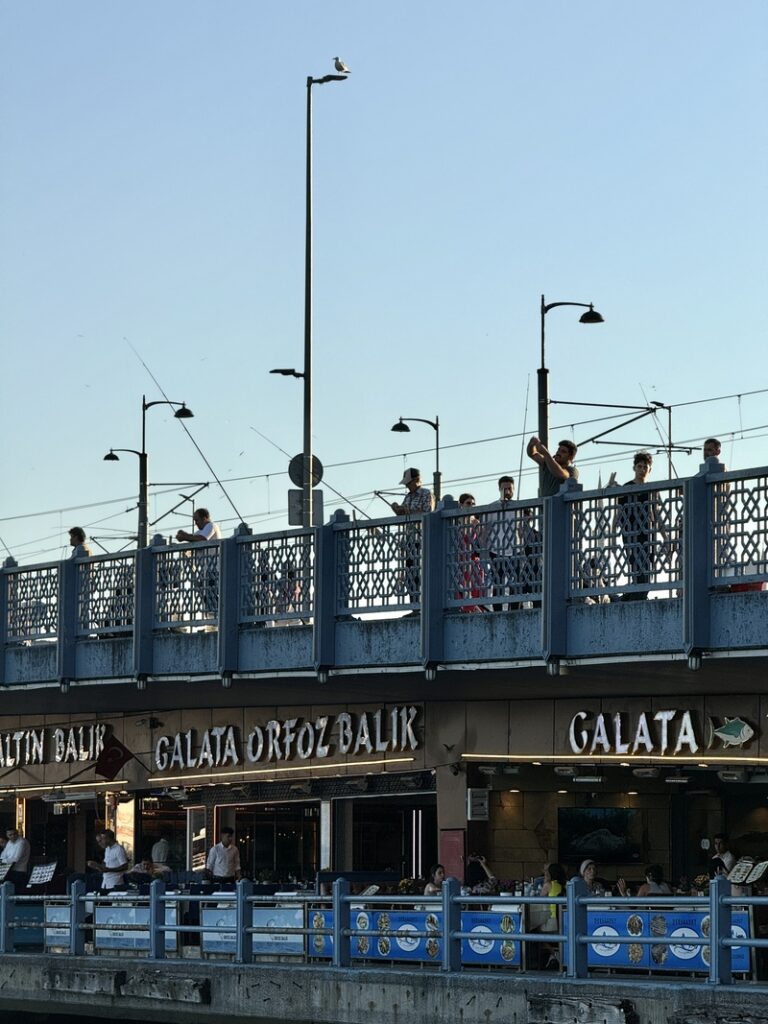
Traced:
MULTIPOLYGON (((542 620, 541 642, 516 656, 549 660, 579 656, 568 646, 569 608, 682 597, 672 646, 690 654, 710 645, 713 594, 768 581, 768 468, 721 469, 710 460, 685 480, 600 492, 567 481, 554 498, 470 514, 449 498, 413 518, 350 522, 337 512, 314 530, 253 537, 241 526, 215 544, 157 538, 120 555, 33 566, 7 559, 0 650, 55 641, 52 675, 63 682, 88 677, 78 668, 84 644, 132 638, 126 674, 140 678, 166 671, 153 665, 158 638, 217 632, 212 668, 226 674, 242 669, 247 631, 311 625, 312 642, 293 667, 319 670, 339 664, 337 624, 406 612, 424 621, 418 660, 429 666, 452 659, 447 618, 527 608, 542 620)), ((1 664, 0 677, 18 681, 6 680, 1 664)))

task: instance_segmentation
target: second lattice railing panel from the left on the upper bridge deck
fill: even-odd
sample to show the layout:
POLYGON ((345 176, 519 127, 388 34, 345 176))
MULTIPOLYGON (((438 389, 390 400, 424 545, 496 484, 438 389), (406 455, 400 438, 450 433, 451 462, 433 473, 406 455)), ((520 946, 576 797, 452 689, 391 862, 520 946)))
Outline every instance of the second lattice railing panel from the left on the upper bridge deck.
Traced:
POLYGON ((103 555, 77 566, 77 632, 130 633, 136 559, 127 555, 103 555))

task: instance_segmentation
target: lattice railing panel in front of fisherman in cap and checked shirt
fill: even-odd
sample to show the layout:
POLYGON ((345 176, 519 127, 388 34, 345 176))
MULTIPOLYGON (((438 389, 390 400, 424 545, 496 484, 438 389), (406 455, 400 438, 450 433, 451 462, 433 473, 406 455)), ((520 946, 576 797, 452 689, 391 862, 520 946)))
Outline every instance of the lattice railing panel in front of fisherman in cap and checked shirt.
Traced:
POLYGON ((421 607, 421 516, 336 527, 339 613, 421 607))

